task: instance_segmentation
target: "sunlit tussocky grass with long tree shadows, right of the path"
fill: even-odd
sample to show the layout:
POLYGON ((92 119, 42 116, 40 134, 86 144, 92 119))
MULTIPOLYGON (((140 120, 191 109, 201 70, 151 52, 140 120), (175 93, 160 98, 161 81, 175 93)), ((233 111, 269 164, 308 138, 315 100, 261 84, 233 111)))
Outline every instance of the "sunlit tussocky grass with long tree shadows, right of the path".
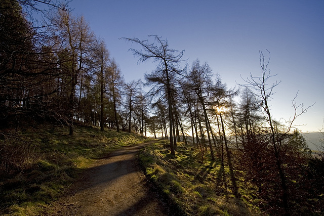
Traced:
POLYGON ((229 169, 206 154, 203 163, 195 146, 178 143, 172 157, 168 141, 147 146, 140 154, 148 178, 179 215, 263 215, 256 188, 236 173, 240 198, 231 190, 229 169))

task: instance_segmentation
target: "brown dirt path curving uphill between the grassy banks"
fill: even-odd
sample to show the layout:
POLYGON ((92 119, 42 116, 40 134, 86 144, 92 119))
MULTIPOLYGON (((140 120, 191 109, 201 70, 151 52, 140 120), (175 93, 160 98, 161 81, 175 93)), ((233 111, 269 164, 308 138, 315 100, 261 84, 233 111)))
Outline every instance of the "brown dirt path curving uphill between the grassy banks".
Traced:
POLYGON ((54 215, 168 215, 136 158, 145 145, 126 147, 99 159, 53 204, 54 215))

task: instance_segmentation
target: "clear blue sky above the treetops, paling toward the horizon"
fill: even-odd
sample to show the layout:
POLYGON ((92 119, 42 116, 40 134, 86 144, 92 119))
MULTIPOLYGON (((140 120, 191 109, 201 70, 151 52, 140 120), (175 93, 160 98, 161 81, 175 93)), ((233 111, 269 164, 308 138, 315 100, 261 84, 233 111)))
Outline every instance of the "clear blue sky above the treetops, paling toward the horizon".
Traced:
MULTIPOLYGON (((269 68, 281 83, 271 100, 279 120, 294 113, 292 99, 307 107, 296 124, 303 132, 324 126, 324 1, 154 1, 74 0, 74 15, 84 15, 96 35, 105 40, 110 56, 126 81, 143 79, 154 69, 137 64, 120 37, 146 39, 149 34, 167 38, 169 46, 185 50, 189 66, 207 61, 228 87, 240 78, 260 75, 259 51, 271 52, 269 68)), ((275 81, 275 80, 273 80, 275 81)))

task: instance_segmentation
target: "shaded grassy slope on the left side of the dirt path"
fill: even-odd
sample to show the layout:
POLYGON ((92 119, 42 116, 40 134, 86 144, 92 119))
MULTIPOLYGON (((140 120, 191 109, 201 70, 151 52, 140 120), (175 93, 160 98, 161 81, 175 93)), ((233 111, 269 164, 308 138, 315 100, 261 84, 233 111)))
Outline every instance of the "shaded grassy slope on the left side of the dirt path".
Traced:
POLYGON ((76 127, 72 137, 67 136, 67 132, 67 127, 47 126, 21 133, 20 138, 10 144, 3 143, 3 146, 12 145, 12 149, 18 146, 19 157, 23 159, 17 164, 19 170, 0 177, 1 215, 46 213, 46 206, 95 158, 113 149, 146 141, 137 135, 101 132, 94 127, 76 127))

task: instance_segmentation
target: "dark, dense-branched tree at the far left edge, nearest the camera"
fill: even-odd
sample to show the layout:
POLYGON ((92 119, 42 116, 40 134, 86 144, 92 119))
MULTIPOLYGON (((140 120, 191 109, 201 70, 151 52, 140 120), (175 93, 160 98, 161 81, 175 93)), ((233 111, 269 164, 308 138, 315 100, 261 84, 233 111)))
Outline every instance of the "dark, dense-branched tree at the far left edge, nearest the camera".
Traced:
MULTIPOLYGON (((30 125, 31 120, 52 118, 55 110, 51 99, 59 70, 44 32, 32 22, 32 13, 40 11, 35 2, 0 3, 0 124, 15 124, 16 129, 23 119, 29 118, 30 125)), ((56 3, 44 2, 52 9, 58 7, 56 3)))

